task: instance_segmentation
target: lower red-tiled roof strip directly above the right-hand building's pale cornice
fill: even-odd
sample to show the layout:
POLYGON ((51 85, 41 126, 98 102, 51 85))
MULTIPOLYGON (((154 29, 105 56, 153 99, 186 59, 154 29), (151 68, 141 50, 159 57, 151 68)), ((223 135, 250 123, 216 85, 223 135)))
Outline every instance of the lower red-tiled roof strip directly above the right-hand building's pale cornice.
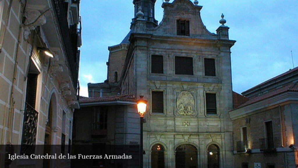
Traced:
POLYGON ((249 101, 247 101, 246 103, 242 104, 241 106, 237 107, 236 109, 239 109, 241 107, 247 106, 247 105, 252 104, 252 103, 256 103, 258 101, 267 99, 269 97, 273 97, 277 94, 282 94, 282 93, 287 92, 287 91, 298 91, 298 83, 291 83, 291 84, 286 85, 282 88, 276 89, 274 91, 270 91, 270 92, 268 92, 266 94, 263 94, 263 95, 260 95, 258 97, 254 97, 254 98, 250 99, 249 101))

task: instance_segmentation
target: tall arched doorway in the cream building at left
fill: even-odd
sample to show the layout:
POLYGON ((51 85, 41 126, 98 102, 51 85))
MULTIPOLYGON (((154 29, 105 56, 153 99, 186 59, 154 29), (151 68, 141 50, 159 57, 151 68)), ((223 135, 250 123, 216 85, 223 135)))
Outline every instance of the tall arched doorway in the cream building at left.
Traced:
MULTIPOLYGON (((47 116, 47 122, 46 122, 46 131, 44 135, 44 155, 48 154, 51 155, 52 153, 52 128, 54 124, 53 115, 55 115, 56 112, 56 96, 55 94, 52 94, 50 103, 49 103, 49 109, 48 109, 48 116, 47 116)), ((49 168, 50 167, 50 159, 44 159, 43 160, 43 167, 49 168)))

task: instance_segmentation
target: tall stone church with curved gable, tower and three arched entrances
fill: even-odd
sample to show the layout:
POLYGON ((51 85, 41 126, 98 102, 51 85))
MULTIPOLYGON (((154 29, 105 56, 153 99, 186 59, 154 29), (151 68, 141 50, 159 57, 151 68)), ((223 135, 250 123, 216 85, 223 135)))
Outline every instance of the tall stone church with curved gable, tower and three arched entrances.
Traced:
MULTIPOLYGON (((144 167, 233 167, 229 27, 216 33, 198 1, 134 0, 131 30, 109 47, 108 79, 89 84, 89 97, 145 95, 144 167)), ((137 137, 136 137, 137 139, 137 137)))

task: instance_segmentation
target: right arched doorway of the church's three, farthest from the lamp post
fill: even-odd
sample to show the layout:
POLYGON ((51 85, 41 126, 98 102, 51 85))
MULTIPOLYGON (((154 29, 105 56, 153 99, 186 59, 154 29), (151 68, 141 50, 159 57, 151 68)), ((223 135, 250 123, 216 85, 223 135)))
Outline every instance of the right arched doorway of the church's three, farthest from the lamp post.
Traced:
POLYGON ((211 144, 207 150, 208 155, 208 168, 219 168, 219 147, 215 144, 211 144))

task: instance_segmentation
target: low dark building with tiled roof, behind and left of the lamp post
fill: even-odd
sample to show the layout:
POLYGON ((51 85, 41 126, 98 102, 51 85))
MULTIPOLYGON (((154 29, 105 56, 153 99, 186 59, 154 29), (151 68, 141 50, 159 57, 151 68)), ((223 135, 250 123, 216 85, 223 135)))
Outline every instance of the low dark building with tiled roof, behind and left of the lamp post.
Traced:
MULTIPOLYGON (((98 152, 97 148, 109 148, 111 147, 109 145, 118 147, 128 144, 138 145, 139 135, 140 119, 139 114, 136 113, 134 95, 80 97, 80 109, 77 109, 74 114, 74 146, 83 145, 84 148, 98 152)), ((101 163, 104 167, 110 168, 119 167, 119 165, 123 168, 133 167, 131 160, 126 165, 122 161, 121 163, 118 160, 111 162, 107 159, 87 161, 83 162, 83 165, 79 165, 80 162, 82 161, 79 160, 72 166, 98 167, 101 163)), ((139 161, 136 163, 138 165, 139 161)))

